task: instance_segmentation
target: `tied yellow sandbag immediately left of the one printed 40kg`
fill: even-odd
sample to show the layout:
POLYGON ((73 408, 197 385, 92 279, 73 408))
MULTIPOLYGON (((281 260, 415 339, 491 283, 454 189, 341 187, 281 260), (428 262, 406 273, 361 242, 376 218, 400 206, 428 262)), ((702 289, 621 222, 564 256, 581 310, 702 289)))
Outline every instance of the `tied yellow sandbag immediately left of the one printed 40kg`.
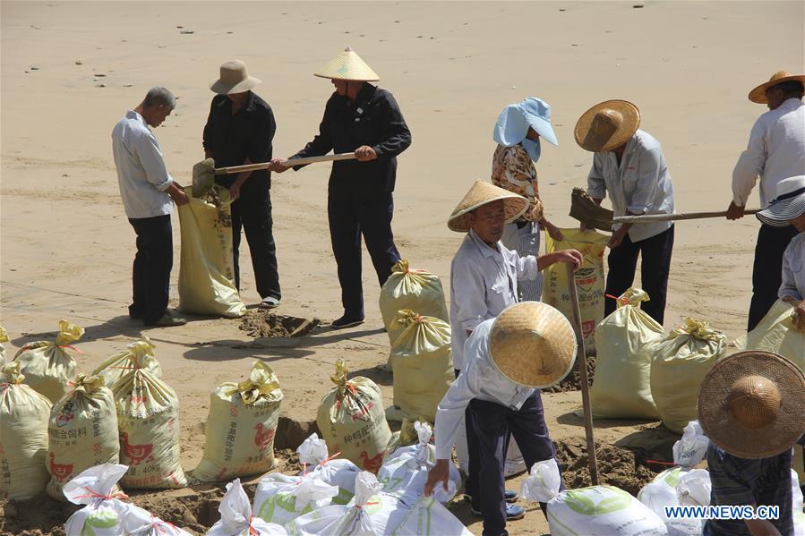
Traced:
POLYGON ((50 411, 47 437, 47 495, 56 500, 64 500, 62 486, 73 476, 95 465, 117 464, 115 398, 103 378, 76 376, 73 390, 50 411))

